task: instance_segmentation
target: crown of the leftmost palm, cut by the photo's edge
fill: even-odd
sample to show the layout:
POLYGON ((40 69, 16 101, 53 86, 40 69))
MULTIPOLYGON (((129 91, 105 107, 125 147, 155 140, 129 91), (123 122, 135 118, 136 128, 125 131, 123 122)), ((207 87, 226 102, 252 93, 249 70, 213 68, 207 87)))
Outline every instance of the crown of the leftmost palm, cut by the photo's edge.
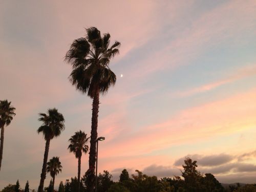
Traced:
POLYGON ((2 100, 0 101, 0 129, 2 126, 8 126, 13 116, 16 114, 14 113, 15 108, 11 106, 11 102, 8 102, 8 100, 2 100))

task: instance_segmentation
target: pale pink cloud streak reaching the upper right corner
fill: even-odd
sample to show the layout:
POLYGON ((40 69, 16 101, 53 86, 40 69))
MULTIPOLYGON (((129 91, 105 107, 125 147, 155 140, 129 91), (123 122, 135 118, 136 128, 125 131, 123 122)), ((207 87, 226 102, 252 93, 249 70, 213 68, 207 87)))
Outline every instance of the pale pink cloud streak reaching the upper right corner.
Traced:
POLYGON ((131 70, 131 75, 134 78, 145 79, 145 76, 157 71, 189 65, 206 49, 229 39, 235 39, 233 43, 241 44, 243 38, 241 34, 253 30, 254 7, 255 1, 244 3, 238 0, 226 2, 204 13, 191 27, 174 35, 173 40, 169 40, 168 46, 159 48, 154 54, 138 63, 136 70, 131 70))

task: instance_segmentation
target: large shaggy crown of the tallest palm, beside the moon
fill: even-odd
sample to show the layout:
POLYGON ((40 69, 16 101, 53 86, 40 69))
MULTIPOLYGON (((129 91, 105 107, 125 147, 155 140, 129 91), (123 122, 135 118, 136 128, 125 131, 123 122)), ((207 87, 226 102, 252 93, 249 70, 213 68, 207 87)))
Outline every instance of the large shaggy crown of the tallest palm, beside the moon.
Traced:
POLYGON ((116 82, 116 75, 110 70, 109 63, 119 53, 120 42, 115 41, 110 46, 109 33, 101 37, 100 31, 95 27, 86 31, 86 38, 73 41, 65 60, 73 67, 70 74, 73 86, 93 98, 97 89, 105 93, 116 82))

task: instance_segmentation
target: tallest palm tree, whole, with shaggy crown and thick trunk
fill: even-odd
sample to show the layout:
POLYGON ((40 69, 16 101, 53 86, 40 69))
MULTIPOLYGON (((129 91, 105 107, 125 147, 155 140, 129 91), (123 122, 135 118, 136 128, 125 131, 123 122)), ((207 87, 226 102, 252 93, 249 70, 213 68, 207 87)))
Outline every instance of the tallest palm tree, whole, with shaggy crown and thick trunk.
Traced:
POLYGON ((69 79, 78 91, 93 99, 92 127, 90 140, 89 169, 87 171, 89 191, 95 186, 96 140, 98 127, 99 94, 106 93, 114 86, 116 75, 109 68, 110 59, 119 53, 120 42, 110 46, 110 34, 100 35, 91 27, 86 29, 86 38, 75 39, 65 60, 72 65, 69 79))

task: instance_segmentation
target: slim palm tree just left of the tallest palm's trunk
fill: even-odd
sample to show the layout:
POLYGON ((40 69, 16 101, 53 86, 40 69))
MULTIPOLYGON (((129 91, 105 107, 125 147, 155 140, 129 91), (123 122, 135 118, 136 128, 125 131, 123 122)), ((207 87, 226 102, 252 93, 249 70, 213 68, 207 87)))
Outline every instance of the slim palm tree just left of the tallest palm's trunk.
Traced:
POLYGON ((81 130, 75 132, 69 139, 70 145, 68 149, 71 153, 74 153, 75 157, 78 159, 78 192, 80 191, 81 157, 82 153, 86 154, 88 152, 89 146, 86 144, 88 139, 89 137, 87 137, 87 134, 81 130))

